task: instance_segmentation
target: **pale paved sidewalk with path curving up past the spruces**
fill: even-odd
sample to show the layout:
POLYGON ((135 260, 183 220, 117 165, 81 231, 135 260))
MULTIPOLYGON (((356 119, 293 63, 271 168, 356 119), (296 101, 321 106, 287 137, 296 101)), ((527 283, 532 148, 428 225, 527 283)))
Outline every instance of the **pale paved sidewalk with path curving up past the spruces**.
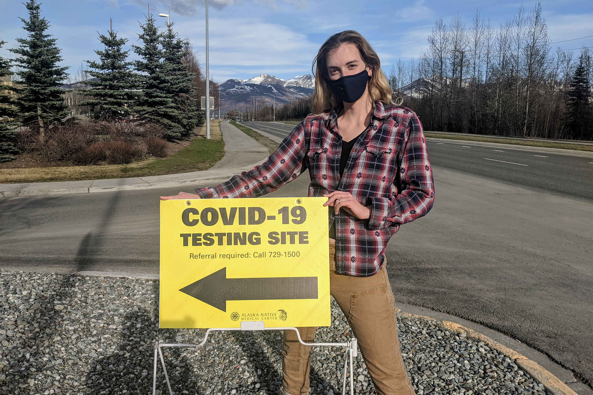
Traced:
POLYGON ((214 183, 250 170, 253 166, 263 163, 269 155, 262 144, 229 124, 228 121, 221 123, 221 131, 226 153, 210 170, 133 178, 0 184, 0 196, 87 194, 214 183))

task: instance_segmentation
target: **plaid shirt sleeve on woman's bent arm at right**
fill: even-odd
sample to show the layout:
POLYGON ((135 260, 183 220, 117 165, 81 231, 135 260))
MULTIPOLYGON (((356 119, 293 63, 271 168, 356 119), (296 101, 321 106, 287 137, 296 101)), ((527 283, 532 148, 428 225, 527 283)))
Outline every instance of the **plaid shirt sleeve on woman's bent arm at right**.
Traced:
POLYGON ((435 199, 432 168, 422 124, 416 114, 410 118, 408 130, 394 185, 398 194, 391 199, 368 198, 367 205, 372 206, 368 229, 404 224, 426 215, 432 208, 435 199))

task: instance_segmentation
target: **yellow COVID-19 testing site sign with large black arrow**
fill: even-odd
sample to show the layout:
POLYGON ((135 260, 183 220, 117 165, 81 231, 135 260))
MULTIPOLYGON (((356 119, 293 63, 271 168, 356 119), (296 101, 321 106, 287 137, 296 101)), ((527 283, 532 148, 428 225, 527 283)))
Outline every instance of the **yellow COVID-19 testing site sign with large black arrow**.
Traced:
POLYGON ((162 200, 160 327, 329 326, 326 201, 162 200))

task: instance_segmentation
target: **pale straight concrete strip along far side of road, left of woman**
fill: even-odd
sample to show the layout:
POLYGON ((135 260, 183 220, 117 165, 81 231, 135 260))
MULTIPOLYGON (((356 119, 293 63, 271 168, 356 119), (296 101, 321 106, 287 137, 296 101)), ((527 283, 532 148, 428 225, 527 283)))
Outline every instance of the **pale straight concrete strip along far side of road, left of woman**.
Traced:
POLYGON ((263 162, 264 160, 260 160, 260 162, 253 163, 253 165, 236 169, 205 170, 148 177, 0 184, 0 196, 6 198, 40 195, 69 195, 182 187, 184 185, 226 181, 235 174, 250 171, 253 166, 260 165, 263 162))

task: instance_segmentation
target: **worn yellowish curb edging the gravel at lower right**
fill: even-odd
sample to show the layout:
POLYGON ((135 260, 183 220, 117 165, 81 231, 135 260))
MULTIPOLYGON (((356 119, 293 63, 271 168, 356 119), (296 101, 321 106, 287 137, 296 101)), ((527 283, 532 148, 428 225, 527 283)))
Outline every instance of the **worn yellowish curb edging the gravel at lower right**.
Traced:
MULTIPOLYGON (((426 316, 419 316, 416 314, 404 313, 400 309, 397 309, 398 313, 402 316, 406 317, 418 317, 425 320, 435 320, 431 317, 426 316)), ((517 351, 514 351, 506 346, 503 346, 499 342, 493 341, 488 336, 482 335, 482 333, 477 333, 474 330, 468 329, 463 325, 459 325, 457 323, 451 321, 441 321, 441 325, 451 332, 456 333, 464 333, 465 336, 478 339, 481 342, 484 342, 490 348, 496 349, 496 351, 502 352, 509 358, 512 358, 515 363, 521 367, 522 370, 526 371, 531 377, 535 378, 535 380, 539 381, 541 384, 544 384, 544 387, 547 391, 549 391, 553 395, 578 395, 575 391, 570 389, 565 383, 562 382, 559 378, 555 375, 551 374, 549 371, 541 367, 535 361, 524 357, 523 355, 519 354, 517 351)))

